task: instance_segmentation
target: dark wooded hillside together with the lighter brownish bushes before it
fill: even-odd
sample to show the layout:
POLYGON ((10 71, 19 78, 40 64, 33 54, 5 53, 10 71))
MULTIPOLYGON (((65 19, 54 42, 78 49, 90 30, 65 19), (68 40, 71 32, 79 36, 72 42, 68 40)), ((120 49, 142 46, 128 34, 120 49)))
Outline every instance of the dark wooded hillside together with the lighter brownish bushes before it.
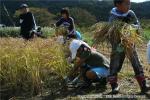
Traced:
MULTIPOLYGON (((60 17, 59 11, 63 7, 70 9, 71 16, 78 26, 90 26, 98 21, 107 21, 109 12, 113 7, 112 0, 2 0, 0 3, 0 24, 11 26, 3 4, 6 6, 10 16, 18 25, 18 11, 20 4, 27 3, 35 14, 37 24, 49 26, 60 17)), ((150 2, 132 3, 132 8, 138 18, 150 19, 150 2)))

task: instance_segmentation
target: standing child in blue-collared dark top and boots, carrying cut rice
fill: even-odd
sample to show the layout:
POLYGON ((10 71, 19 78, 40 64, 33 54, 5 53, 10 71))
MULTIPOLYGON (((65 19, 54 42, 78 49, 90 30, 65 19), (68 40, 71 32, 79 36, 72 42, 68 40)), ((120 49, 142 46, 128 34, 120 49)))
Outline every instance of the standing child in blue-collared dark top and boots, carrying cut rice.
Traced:
MULTIPOLYGON (((135 15, 135 13, 130 9, 130 0, 114 0, 115 8, 110 12, 109 22, 122 21, 128 24, 131 24, 135 28, 140 28, 140 23, 135 15)), ((112 41, 110 39, 110 41, 112 41)), ((121 41, 120 41, 121 42, 121 41)), ((125 51, 117 51, 117 48, 122 48, 120 42, 111 42, 112 53, 110 60, 110 76, 109 83, 112 87, 112 93, 116 94, 119 92, 119 85, 117 83, 117 75, 121 70, 126 53, 125 51)), ((147 92, 150 87, 146 84, 143 67, 140 63, 140 60, 137 55, 136 47, 134 44, 133 53, 129 57, 130 62, 132 63, 133 70, 135 73, 135 78, 139 83, 141 93, 147 92)))

